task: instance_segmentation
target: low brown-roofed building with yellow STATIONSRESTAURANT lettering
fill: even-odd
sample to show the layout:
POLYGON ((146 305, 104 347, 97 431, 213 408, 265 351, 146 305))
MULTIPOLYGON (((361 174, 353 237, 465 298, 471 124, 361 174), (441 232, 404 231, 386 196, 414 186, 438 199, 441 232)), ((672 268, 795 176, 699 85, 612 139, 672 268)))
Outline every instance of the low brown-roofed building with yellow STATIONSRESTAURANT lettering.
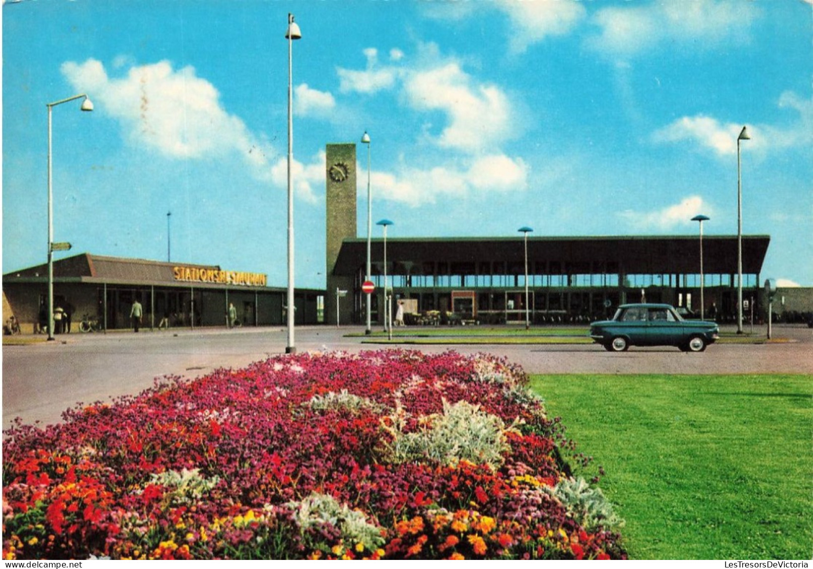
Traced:
MULTIPOLYGON (((33 331, 47 306, 47 271, 43 264, 3 275, 4 306, 7 302, 23 332, 33 331)), ((71 315, 73 331, 85 317, 98 319, 103 329, 129 328, 136 299, 143 308, 144 328, 157 328, 164 317, 171 328, 225 326, 230 303, 243 326, 283 325, 286 293, 285 288, 267 286, 262 273, 217 265, 87 253, 54 261, 54 309, 60 306, 71 315)), ((296 324, 320 322, 323 294, 295 291, 296 324)))

